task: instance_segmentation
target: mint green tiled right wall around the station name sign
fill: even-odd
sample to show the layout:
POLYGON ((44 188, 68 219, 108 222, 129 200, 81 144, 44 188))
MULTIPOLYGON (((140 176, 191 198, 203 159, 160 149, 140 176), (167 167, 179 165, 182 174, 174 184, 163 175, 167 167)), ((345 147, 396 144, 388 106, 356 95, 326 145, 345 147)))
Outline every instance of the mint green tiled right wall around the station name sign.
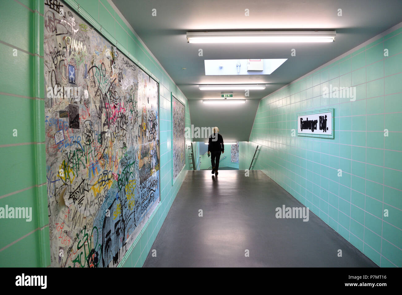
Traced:
POLYGON ((253 169, 381 267, 402 267, 401 81, 397 29, 263 98, 250 141, 239 143, 240 169, 258 144, 253 169), (355 101, 324 98, 329 85, 355 87, 355 101), (291 136, 297 113, 326 108, 334 108, 333 139, 291 136))

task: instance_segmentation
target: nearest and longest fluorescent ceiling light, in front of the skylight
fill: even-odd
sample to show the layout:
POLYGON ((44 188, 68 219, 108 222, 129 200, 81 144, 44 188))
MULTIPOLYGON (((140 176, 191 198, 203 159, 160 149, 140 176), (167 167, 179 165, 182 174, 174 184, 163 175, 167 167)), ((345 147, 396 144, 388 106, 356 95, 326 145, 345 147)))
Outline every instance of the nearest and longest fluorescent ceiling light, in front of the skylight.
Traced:
POLYGON ((187 32, 187 43, 333 42, 336 31, 187 32))

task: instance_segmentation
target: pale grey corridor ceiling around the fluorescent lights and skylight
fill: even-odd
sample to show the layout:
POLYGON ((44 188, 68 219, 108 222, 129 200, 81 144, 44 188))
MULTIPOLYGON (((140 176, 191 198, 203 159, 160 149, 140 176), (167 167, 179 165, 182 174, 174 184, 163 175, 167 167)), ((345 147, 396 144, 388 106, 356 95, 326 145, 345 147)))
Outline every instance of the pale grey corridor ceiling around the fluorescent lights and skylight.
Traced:
MULTIPOLYGON (((266 90, 250 90, 248 99, 259 100, 402 21, 401 0, 112 1, 190 102, 220 96, 220 91, 198 90, 199 84, 267 83, 266 90), (156 16, 151 15, 153 8, 156 16), (246 8, 250 16, 244 15, 246 8), (339 8, 343 16, 337 15, 339 8), (264 29, 336 30, 336 40, 333 43, 228 45, 189 44, 186 39, 187 31, 264 29), (198 56, 200 48, 202 57, 198 56), (290 56, 293 48, 295 57, 290 56), (205 75, 204 59, 248 58, 288 60, 271 75, 205 75)), ((244 98, 244 91, 234 91, 234 98, 244 98)), ((240 120, 242 124, 236 130, 229 127, 230 139, 226 140, 248 140, 258 104, 247 102, 243 106, 245 115, 254 114, 252 120, 234 116, 233 110, 221 106, 216 109, 220 116, 210 118, 201 105, 190 103, 192 124, 235 126, 240 120)))

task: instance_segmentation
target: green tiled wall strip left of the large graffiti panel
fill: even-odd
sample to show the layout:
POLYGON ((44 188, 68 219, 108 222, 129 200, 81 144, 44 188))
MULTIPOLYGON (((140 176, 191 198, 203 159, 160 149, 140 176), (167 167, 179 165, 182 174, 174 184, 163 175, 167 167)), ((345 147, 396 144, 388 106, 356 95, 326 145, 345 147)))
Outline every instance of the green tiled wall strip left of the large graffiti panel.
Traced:
POLYGON ((40 3, 0 1, 0 207, 32 208, 31 221, 0 219, 1 267, 50 264, 40 3))

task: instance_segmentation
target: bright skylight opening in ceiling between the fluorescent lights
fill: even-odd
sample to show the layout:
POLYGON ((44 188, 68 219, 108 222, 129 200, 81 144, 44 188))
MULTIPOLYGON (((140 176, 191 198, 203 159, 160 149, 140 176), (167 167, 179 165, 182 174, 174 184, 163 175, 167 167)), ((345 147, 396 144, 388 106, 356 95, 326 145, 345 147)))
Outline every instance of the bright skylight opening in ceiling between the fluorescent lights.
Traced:
POLYGON ((270 75, 285 59, 207 59, 205 75, 270 75))

